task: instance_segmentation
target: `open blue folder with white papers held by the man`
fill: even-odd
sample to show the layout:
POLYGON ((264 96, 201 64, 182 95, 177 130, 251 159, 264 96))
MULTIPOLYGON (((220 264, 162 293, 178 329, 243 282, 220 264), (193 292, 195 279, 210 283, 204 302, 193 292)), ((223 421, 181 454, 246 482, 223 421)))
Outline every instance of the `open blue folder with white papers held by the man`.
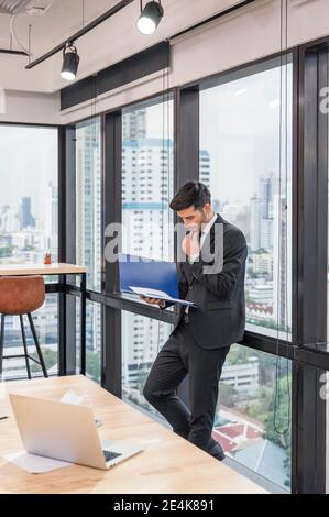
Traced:
POLYGON ((174 262, 119 253, 119 275, 121 293, 197 307, 193 301, 179 299, 177 268, 174 262))

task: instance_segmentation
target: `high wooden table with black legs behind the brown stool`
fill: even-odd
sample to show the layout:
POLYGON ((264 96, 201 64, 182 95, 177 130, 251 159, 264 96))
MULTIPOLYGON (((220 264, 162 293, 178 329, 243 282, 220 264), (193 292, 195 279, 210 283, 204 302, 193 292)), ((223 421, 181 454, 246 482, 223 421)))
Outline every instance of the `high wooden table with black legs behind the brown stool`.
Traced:
MULTIPOLYGON (((80 373, 86 373, 86 276, 87 267, 64 262, 53 264, 0 264, 0 276, 59 275, 59 292, 66 293, 67 275, 81 276, 80 283, 80 373)), ((66 333, 61 340, 59 371, 66 373, 66 333)))

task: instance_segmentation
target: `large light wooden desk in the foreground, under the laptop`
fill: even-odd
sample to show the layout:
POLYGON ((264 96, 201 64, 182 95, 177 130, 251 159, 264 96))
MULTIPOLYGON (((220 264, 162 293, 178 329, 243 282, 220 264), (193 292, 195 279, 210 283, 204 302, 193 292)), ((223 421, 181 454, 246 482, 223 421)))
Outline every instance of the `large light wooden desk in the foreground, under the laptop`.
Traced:
POLYGON ((0 420, 1 493, 264 493, 241 474, 81 375, 2 383, 1 415, 10 416, 7 420, 0 420), (102 439, 132 441, 141 444, 143 452, 109 471, 72 465, 35 475, 8 463, 2 457, 22 448, 8 393, 58 400, 70 388, 90 397, 95 416, 103 422, 99 428, 102 439))

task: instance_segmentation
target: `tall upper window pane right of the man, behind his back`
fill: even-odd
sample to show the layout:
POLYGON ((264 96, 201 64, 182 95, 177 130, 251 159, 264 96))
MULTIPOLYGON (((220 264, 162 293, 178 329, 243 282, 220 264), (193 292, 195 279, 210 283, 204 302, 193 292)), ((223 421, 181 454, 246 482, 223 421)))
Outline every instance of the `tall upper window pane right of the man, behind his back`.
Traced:
POLYGON ((290 331, 290 64, 200 91, 200 180, 246 238, 248 328, 290 331))

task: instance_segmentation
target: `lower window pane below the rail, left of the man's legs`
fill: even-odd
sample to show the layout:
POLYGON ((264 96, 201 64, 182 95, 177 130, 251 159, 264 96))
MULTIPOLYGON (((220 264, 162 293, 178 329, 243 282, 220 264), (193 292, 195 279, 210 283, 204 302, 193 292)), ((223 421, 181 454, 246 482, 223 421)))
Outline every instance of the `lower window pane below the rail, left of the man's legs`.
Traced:
POLYGON ((163 417, 145 400, 143 388, 151 366, 166 340, 172 327, 163 321, 132 312, 121 312, 122 328, 122 398, 163 417))

